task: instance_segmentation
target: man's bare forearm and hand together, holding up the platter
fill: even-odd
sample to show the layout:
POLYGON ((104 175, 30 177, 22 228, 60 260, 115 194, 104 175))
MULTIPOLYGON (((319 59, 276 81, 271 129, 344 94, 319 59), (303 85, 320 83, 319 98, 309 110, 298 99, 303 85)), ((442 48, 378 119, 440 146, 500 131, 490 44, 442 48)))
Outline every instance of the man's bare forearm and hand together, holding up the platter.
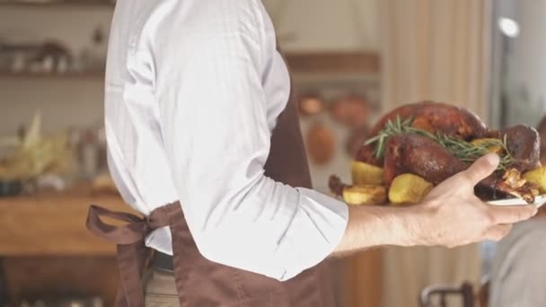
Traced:
POLYGON ((474 195, 474 186, 498 166, 488 154, 469 169, 430 191, 420 205, 349 206, 345 236, 334 255, 382 245, 455 247, 502 239, 512 224, 536 214, 536 206, 490 206, 474 195))

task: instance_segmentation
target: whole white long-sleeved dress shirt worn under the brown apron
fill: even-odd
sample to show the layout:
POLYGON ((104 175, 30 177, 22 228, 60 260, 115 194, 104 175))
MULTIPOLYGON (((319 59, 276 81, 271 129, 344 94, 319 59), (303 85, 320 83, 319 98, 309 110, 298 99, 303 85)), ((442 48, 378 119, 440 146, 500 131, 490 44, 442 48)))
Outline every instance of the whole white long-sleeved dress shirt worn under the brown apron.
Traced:
MULTIPOLYGON (((339 244, 348 207, 264 175, 289 75, 260 0, 119 0, 106 72, 113 179, 148 215, 181 201, 199 252, 286 280, 339 244)), ((168 228, 146 244, 172 254, 168 228)))

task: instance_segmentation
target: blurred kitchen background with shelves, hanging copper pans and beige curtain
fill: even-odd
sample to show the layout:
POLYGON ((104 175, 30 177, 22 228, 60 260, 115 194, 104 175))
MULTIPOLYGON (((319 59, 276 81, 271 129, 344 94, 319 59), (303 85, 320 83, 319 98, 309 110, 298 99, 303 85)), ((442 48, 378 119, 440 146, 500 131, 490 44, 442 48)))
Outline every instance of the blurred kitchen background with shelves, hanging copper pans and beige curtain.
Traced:
MULTIPOLYGON (((385 111, 431 99, 491 127, 546 108, 546 1, 263 0, 293 70, 316 189, 385 111)), ((115 3, 0 0, 0 306, 111 306, 115 249, 88 205, 128 211, 104 159, 103 70, 115 3), (16 165, 16 167, 13 167, 16 165), (24 182, 24 184, 21 184, 24 182)), ((491 243, 369 250, 338 261, 342 306, 418 306, 428 285, 475 292, 491 243)))

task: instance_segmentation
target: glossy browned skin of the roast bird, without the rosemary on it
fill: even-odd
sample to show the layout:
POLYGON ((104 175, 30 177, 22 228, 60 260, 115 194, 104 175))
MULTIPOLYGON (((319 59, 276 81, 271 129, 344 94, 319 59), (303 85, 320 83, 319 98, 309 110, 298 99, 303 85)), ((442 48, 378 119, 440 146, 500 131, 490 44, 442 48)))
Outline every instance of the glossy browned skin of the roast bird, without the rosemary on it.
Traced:
MULTIPOLYGON (((482 138, 503 140, 506 144, 505 154, 510 157, 509 164, 480 181, 476 186, 476 195, 484 200, 512 195, 533 202, 538 194, 537 187, 520 176, 524 171, 540 166, 540 138, 533 127, 518 125, 489 130, 470 110, 441 102, 421 101, 384 115, 372 128, 371 136, 378 135, 389 121, 396 118, 411 118, 411 127, 466 142, 482 138)), ((437 185, 471 165, 471 162, 455 157, 435 140, 417 134, 390 136, 381 156, 376 153, 376 147, 377 144, 363 145, 356 160, 383 167, 387 187, 402 173, 413 173, 437 185)), ((341 186, 342 183, 336 178, 330 180, 332 191, 339 190, 341 186)))

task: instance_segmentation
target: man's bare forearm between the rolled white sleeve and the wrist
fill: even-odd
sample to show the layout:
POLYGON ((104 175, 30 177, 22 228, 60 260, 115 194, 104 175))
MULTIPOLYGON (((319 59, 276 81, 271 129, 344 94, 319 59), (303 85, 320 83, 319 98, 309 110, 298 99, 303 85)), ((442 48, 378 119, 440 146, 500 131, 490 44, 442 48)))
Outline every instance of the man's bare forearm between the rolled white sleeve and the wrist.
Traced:
POLYGON ((426 215, 418 207, 349 206, 345 235, 332 256, 383 245, 426 245, 422 228, 429 218, 426 215))

